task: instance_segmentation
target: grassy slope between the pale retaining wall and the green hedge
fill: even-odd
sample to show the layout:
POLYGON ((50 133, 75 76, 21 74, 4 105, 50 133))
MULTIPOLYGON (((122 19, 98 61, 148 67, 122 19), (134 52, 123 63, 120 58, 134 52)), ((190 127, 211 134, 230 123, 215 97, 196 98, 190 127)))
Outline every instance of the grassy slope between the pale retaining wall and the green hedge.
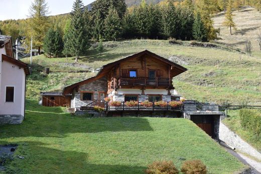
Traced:
POLYGON ((247 143, 251 144, 258 151, 261 151, 261 139, 254 138, 251 132, 242 128, 240 124, 239 110, 228 110, 228 117, 223 122, 247 143))

